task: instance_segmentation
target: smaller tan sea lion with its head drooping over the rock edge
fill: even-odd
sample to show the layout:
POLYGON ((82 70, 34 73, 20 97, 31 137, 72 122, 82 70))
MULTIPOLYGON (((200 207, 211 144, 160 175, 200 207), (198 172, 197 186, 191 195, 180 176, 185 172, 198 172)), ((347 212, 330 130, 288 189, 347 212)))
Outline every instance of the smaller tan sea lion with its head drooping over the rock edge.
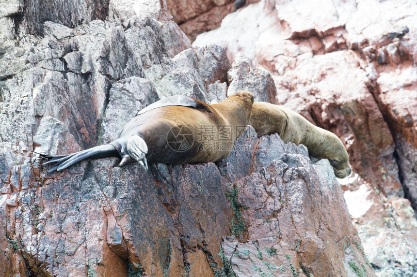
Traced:
POLYGON ((258 137, 278 133, 284 142, 304 144, 311 156, 330 161, 337 178, 344 178, 352 172, 349 154, 340 139, 296 112, 266 102, 255 102, 249 124, 258 137))

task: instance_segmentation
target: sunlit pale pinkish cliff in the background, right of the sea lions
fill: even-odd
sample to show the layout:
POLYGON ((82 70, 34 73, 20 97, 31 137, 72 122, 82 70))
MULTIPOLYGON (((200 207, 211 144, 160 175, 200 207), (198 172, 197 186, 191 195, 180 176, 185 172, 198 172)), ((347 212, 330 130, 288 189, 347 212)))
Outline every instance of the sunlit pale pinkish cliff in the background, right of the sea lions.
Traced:
POLYGON ((265 0, 193 43, 252 59, 277 102, 342 139, 342 189, 378 276, 417 272, 416 15, 410 1, 265 0))

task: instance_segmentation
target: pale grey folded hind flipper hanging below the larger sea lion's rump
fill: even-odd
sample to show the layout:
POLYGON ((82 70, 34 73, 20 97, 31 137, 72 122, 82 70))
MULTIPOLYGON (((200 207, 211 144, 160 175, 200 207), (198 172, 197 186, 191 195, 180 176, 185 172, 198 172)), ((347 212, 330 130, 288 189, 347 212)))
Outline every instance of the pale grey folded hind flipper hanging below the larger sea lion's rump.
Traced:
POLYGON ((119 166, 122 166, 126 163, 129 163, 131 158, 135 159, 139 162, 140 165, 144 167, 144 169, 148 170, 148 163, 146 160, 145 155, 148 153, 148 146, 144 139, 138 135, 133 135, 128 138, 126 143, 126 151, 122 150, 122 161, 120 162, 119 166), (127 153, 125 153, 127 151, 127 153))

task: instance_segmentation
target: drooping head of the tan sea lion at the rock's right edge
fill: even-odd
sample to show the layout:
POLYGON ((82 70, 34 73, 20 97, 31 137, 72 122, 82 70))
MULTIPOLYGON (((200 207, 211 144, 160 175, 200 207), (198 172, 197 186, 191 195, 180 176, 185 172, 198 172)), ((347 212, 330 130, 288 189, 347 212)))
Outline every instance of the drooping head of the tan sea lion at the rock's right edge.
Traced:
MULTIPOLYGON (((330 132, 329 132, 330 133, 330 132)), ((340 139, 333 133, 328 134, 329 141, 328 151, 325 157, 330 161, 333 171, 337 178, 344 178, 352 173, 352 167, 349 164, 349 154, 340 139)))

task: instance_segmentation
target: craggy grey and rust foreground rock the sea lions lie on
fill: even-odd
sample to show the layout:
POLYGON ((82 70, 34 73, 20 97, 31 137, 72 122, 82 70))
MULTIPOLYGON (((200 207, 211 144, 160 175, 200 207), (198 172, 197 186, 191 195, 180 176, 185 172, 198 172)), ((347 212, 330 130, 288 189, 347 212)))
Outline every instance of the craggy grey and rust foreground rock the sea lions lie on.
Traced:
POLYGON ((164 1, 4 3, 1 276, 375 276, 329 162, 276 134, 248 127, 217 163, 48 174, 32 151, 107 143, 166 95, 279 95, 250 59, 191 48, 164 1))

